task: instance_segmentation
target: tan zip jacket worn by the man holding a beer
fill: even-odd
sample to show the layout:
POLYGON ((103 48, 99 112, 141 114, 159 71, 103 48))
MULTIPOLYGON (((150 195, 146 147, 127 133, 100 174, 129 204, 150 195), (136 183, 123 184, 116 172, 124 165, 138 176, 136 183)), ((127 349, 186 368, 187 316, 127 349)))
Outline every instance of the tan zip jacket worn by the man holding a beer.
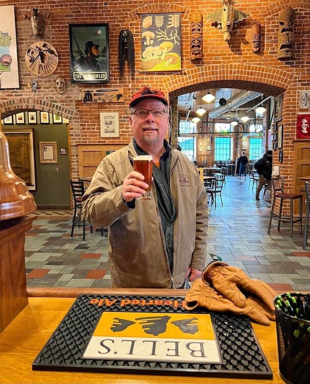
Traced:
POLYGON ((125 177, 134 170, 131 143, 99 164, 82 199, 88 222, 108 228, 112 285, 122 288, 179 288, 189 266, 203 270, 206 260, 208 206, 196 167, 184 154, 171 150, 170 188, 177 218, 170 274, 156 189, 153 200, 128 208, 121 195, 125 177))

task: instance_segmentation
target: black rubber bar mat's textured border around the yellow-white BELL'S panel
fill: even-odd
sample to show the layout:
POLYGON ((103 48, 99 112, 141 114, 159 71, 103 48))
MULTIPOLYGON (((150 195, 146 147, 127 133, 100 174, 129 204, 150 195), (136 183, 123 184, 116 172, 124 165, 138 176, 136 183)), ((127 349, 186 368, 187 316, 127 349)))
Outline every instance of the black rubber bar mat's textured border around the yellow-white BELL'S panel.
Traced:
POLYGON ((101 295, 81 295, 34 360, 32 369, 84 372, 118 371, 126 374, 201 375, 247 379, 271 379, 273 377, 272 370, 248 318, 230 314, 212 313, 222 364, 82 358, 103 311, 137 311, 138 314, 139 312, 210 313, 200 308, 187 311, 182 307, 183 301, 184 297, 181 296, 102 297, 101 295), (168 305, 158 305, 163 302, 168 305), (94 305, 94 303, 97 304, 94 305), (169 305, 169 303, 173 304, 169 305))

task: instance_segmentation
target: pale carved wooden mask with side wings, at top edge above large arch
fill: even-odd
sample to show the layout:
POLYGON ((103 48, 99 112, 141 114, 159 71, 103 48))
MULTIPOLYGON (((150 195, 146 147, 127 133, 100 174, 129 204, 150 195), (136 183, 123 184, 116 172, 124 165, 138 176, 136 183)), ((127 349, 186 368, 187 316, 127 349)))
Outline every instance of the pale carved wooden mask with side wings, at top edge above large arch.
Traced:
POLYGON ((216 10, 207 17, 215 21, 212 25, 223 30, 224 41, 229 41, 231 39, 231 31, 233 27, 236 28, 238 22, 249 17, 249 15, 235 9, 233 0, 220 0, 219 2, 220 5, 222 5, 222 8, 216 10))

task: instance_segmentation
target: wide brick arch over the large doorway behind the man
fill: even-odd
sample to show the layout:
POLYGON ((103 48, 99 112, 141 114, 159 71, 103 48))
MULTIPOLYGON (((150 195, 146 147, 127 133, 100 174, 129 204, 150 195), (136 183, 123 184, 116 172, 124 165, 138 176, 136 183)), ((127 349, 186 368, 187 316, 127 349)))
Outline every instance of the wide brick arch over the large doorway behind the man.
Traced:
POLYGON ((170 98, 206 88, 238 88, 277 96, 296 84, 297 79, 277 68, 236 63, 187 69, 183 76, 167 76, 162 84, 170 98))

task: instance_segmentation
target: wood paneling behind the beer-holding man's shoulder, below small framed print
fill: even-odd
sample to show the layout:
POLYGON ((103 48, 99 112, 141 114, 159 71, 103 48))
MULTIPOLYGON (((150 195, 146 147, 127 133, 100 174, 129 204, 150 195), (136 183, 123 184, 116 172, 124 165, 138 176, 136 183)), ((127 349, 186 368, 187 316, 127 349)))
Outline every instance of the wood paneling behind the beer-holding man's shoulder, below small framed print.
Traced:
POLYGON ((92 177, 101 160, 126 144, 78 144, 79 176, 92 177))

